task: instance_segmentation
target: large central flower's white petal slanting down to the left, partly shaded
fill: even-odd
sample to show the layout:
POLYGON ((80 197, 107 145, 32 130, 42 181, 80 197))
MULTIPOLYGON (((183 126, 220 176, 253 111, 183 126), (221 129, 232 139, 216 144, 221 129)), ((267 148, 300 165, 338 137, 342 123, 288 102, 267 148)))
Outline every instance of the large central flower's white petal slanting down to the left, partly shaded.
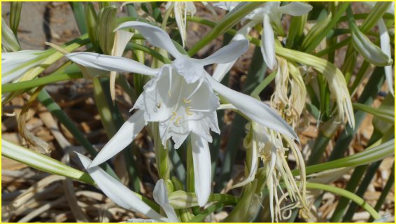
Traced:
POLYGON ((120 127, 120 130, 108 141, 94 158, 90 167, 97 166, 112 158, 134 141, 135 137, 145 125, 143 111, 138 110, 120 127))

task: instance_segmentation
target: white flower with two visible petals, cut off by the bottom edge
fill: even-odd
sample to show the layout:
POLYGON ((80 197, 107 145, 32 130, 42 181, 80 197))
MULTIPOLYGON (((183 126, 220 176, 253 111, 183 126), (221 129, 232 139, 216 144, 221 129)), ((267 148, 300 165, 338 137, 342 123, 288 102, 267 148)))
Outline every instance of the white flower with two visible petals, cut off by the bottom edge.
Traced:
POLYGON ((113 179, 113 177, 104 172, 104 170, 100 167, 90 167, 90 163, 92 161, 85 155, 80 153, 77 153, 77 155, 83 164, 83 167, 87 170, 92 179, 94 179, 97 186, 115 204, 118 204, 124 209, 144 214, 145 216, 148 216, 148 218, 152 218, 155 222, 180 222, 174 208, 171 207, 171 204, 169 204, 167 187, 165 186, 162 179, 157 181, 155 184, 153 197, 155 202, 160 204, 160 207, 164 209, 164 212, 167 214, 168 218, 158 214, 157 211, 152 209, 150 206, 148 206, 148 204, 136 196, 132 190, 129 190, 129 188, 124 186, 122 183, 113 179))

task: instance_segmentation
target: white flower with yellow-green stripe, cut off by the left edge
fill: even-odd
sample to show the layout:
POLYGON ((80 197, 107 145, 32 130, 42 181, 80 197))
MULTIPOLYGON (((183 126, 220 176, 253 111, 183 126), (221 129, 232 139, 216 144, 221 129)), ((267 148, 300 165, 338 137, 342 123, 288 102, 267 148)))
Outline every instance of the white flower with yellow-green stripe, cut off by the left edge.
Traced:
POLYGON ((46 58, 43 50, 1 52, 1 84, 11 83, 46 58))

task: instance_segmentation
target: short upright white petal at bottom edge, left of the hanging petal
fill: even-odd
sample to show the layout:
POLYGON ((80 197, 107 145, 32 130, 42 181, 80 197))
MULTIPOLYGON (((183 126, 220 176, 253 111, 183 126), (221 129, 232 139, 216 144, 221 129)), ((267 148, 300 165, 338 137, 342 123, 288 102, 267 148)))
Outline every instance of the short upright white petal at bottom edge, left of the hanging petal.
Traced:
POLYGON ((160 179, 155 184, 155 188, 153 191, 153 197, 157 204, 160 204, 162 209, 164 209, 165 214, 169 218, 171 223, 179 223, 178 216, 176 215, 175 209, 171 207, 168 200, 168 191, 167 187, 165 186, 164 180, 160 179))

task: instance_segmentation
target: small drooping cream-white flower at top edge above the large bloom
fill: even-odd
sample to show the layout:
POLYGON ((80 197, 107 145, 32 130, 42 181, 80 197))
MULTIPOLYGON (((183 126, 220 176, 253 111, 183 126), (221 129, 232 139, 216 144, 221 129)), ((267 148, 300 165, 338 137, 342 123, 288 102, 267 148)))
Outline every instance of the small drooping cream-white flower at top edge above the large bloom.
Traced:
POLYGON ((169 1, 165 8, 169 9, 172 4, 174 4, 174 17, 176 19, 176 24, 178 25, 181 42, 184 48, 185 39, 187 38, 187 15, 193 16, 197 13, 197 8, 195 8, 194 3, 191 1, 169 1))

